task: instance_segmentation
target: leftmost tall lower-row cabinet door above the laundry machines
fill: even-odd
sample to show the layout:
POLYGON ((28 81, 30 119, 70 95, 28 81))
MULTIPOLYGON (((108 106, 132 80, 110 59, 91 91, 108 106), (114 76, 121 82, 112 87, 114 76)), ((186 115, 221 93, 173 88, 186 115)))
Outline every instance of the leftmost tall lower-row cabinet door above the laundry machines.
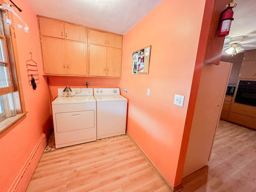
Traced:
POLYGON ((66 74, 65 42, 62 39, 41 36, 45 74, 66 74))

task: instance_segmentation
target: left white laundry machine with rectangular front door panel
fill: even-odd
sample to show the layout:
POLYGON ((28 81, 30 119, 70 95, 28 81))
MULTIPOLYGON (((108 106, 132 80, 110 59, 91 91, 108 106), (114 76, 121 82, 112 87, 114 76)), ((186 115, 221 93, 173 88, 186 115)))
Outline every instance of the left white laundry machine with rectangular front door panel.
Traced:
POLYGON ((92 88, 72 89, 66 97, 58 88, 58 97, 52 102, 56 148, 96 140, 96 100, 92 88))

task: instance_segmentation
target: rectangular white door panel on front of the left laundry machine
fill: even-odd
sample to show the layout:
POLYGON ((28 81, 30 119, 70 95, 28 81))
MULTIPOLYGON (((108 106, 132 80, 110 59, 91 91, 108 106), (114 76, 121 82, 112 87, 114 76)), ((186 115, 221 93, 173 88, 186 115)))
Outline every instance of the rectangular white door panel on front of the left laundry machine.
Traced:
POLYGON ((66 132, 80 129, 93 128, 94 110, 56 113, 56 131, 66 132))

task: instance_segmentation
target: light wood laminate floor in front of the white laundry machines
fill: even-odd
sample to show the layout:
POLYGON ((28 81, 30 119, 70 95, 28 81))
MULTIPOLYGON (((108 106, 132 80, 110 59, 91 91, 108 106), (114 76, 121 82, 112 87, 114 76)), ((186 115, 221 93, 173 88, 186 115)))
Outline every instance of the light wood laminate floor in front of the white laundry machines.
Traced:
POLYGON ((26 192, 169 192, 127 135, 42 154, 26 192))

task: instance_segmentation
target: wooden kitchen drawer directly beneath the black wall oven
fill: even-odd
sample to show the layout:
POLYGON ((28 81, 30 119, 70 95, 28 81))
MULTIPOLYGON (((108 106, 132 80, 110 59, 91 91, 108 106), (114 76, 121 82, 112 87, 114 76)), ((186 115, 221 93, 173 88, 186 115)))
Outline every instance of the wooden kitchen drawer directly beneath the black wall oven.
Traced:
POLYGON ((231 112, 256 118, 256 107, 233 103, 231 112))

